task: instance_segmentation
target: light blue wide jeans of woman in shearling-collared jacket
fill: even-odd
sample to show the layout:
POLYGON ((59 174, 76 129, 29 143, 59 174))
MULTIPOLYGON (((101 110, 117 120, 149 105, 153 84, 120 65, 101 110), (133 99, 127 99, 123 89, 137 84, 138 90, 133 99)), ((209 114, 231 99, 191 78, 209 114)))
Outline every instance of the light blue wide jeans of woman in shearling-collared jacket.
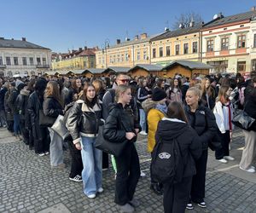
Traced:
POLYGON ((95 147, 95 137, 82 136, 82 161, 84 169, 82 179, 84 183, 84 194, 96 194, 102 187, 102 151, 95 147))

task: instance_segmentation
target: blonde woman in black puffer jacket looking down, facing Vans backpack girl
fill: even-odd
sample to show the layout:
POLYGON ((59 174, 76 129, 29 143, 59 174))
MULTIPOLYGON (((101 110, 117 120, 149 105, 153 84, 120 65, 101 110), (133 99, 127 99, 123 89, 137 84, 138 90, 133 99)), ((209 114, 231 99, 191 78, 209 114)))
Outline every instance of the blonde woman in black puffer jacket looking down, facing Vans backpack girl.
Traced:
MULTIPOLYGON (((201 208, 206 208, 204 201, 207 173, 208 143, 217 133, 217 125, 212 111, 208 107, 200 105, 201 91, 195 87, 188 89, 186 94, 185 107, 186 116, 190 126, 199 135, 202 146, 201 158, 195 161, 196 175, 193 177, 191 188, 191 199, 201 208)), ((191 202, 187 204, 187 209, 193 209, 191 202)))

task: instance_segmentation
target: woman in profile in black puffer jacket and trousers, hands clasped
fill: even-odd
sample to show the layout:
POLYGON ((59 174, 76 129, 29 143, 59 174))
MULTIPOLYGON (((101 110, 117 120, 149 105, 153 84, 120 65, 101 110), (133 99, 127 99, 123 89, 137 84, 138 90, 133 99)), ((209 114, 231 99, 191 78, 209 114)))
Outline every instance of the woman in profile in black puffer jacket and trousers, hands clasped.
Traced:
POLYGON ((140 165, 134 142, 137 138, 135 118, 125 111, 131 101, 131 89, 119 85, 115 90, 117 103, 110 107, 103 135, 108 141, 126 142, 123 154, 114 157, 117 165, 114 202, 122 212, 133 212, 138 202, 133 198, 140 177, 140 165))

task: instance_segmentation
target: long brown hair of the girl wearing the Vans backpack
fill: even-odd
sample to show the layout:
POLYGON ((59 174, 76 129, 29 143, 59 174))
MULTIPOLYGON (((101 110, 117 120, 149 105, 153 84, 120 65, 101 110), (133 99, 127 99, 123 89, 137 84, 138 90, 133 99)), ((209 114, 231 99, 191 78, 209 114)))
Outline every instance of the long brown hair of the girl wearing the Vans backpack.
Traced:
POLYGON ((167 109, 167 117, 168 118, 177 118, 179 120, 182 120, 188 124, 188 118, 186 117, 186 114, 183 110, 183 106, 181 103, 177 101, 173 101, 169 104, 167 109))

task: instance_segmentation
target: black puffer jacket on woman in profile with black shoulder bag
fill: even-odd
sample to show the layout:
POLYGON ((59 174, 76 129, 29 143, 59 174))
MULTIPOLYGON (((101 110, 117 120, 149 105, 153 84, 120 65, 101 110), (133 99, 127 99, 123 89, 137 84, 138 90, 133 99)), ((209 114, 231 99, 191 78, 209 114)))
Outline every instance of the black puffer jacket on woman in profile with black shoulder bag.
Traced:
MULTIPOLYGON (((109 115, 104 125, 104 138, 112 142, 128 141, 125 138, 125 133, 136 133, 135 125, 134 116, 127 112, 122 104, 115 103, 110 107, 109 115)), ((136 139, 137 138, 134 137, 131 141, 136 141, 136 139)))

